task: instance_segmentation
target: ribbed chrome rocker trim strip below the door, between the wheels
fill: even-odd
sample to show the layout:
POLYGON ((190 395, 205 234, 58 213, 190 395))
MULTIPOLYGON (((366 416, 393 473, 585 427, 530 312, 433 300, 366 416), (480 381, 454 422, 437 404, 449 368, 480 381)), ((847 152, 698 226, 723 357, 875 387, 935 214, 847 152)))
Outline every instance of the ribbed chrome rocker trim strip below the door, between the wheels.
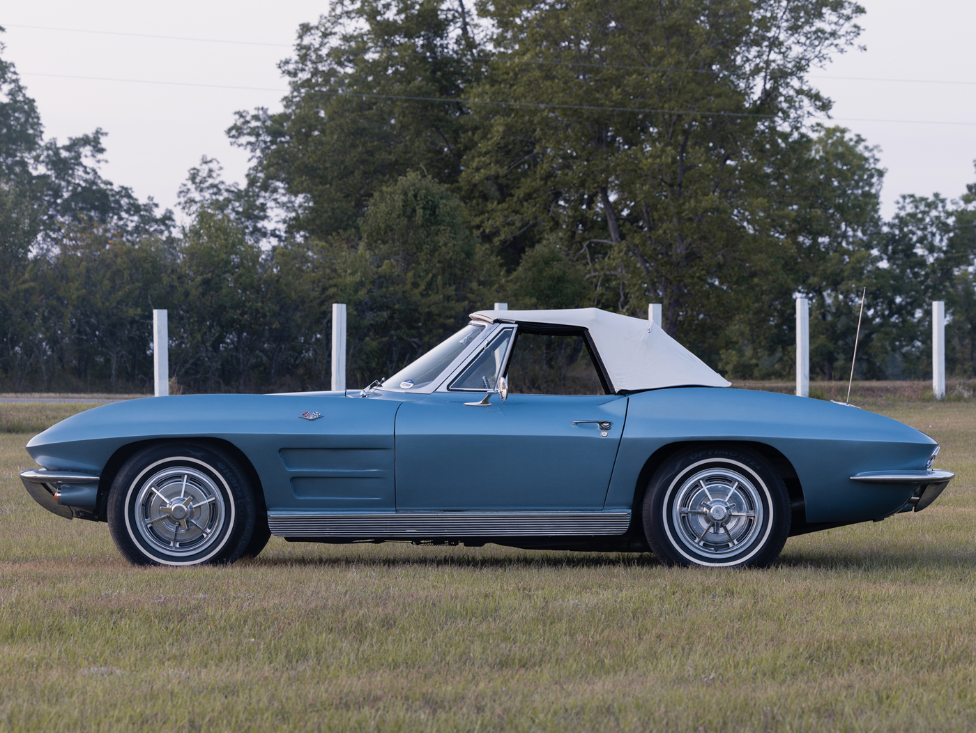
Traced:
POLYGON ((623 535, 630 527, 630 510, 369 513, 268 511, 267 524, 271 533, 277 537, 427 539, 623 535))

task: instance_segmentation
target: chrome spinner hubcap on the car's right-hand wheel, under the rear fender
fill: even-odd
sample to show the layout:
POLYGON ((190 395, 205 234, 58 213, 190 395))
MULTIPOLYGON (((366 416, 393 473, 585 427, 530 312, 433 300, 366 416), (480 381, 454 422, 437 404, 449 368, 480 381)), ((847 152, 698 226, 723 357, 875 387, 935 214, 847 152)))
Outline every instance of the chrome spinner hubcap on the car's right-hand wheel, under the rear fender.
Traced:
POLYGON ((762 518, 752 481, 730 468, 706 468, 686 479, 671 509, 683 544, 714 559, 749 547, 762 529, 762 518))

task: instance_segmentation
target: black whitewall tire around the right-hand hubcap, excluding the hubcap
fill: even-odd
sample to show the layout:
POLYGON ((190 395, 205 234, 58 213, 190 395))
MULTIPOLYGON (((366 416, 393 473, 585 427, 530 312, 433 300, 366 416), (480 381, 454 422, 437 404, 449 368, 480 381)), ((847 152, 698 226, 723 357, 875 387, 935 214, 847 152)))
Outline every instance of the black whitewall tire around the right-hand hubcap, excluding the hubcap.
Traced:
POLYGON ((790 534, 790 495, 783 479, 759 455, 732 448, 700 448, 671 457, 652 476, 642 507, 644 534, 651 550, 668 565, 765 567, 779 556, 790 534), (683 543, 675 531, 671 508, 684 479, 705 468, 730 468, 752 481, 763 507, 763 526, 748 547, 715 559, 683 543))

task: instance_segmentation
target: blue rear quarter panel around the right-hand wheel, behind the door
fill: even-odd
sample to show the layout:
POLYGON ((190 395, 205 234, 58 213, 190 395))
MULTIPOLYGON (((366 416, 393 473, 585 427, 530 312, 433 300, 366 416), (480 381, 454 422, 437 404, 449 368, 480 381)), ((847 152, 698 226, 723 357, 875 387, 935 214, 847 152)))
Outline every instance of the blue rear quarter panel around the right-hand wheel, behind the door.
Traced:
POLYGON ((915 487, 863 484, 869 470, 925 468, 936 443, 890 418, 790 394, 676 387, 630 395, 607 509, 630 509, 640 473, 656 451, 683 442, 750 441, 793 464, 807 522, 874 519, 901 506, 915 487))

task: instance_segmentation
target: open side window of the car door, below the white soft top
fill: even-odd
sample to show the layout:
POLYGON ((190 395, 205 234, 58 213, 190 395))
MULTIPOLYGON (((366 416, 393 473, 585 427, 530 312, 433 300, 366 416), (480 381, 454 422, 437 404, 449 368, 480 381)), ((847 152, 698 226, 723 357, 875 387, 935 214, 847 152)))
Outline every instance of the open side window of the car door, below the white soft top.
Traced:
POLYGON ((521 394, 605 394, 582 333, 518 330, 508 359, 508 391, 521 394))

